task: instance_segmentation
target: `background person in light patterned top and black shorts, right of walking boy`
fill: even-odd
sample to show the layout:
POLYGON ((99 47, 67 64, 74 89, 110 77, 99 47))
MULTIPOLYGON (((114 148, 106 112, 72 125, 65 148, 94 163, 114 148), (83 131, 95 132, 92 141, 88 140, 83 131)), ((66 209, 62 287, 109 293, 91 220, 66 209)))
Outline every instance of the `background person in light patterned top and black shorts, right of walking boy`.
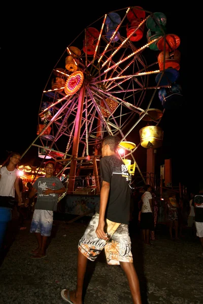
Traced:
POLYGON ((152 203, 152 186, 147 184, 144 187, 145 193, 142 195, 142 213, 140 227, 144 244, 147 246, 150 243, 150 231, 154 230, 153 203, 152 203))

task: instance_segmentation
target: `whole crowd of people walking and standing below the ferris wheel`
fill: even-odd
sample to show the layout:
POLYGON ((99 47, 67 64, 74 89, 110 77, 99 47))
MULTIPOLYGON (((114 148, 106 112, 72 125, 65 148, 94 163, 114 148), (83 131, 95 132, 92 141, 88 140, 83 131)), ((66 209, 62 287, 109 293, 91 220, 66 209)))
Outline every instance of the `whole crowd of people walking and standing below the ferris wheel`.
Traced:
MULTIPOLYGON (((117 148, 120 139, 107 136, 102 140, 100 170, 100 201, 86 230, 78 241, 77 284, 75 290, 61 290, 61 297, 71 304, 82 304, 83 283, 87 260, 95 261, 101 251, 105 250, 109 265, 120 265, 124 271, 132 301, 141 304, 140 285, 131 253, 129 235, 130 213, 133 212, 140 230, 144 245, 151 246, 156 238, 159 202, 150 184, 146 184, 141 197, 133 202, 130 187, 130 175, 124 165, 117 148), (133 210, 131 203, 133 202, 133 210)), ((30 251, 30 258, 46 258, 47 238, 51 235, 53 212, 57 210, 58 198, 66 190, 61 180, 54 176, 55 163, 45 163, 45 176, 39 177, 31 184, 27 183, 24 201, 17 166, 21 156, 13 153, 0 170, 0 207, 8 208, 14 214, 15 206, 19 212, 20 224, 24 215, 21 207, 29 209, 31 217, 30 233, 35 234, 37 247, 30 251), (17 203, 15 204, 15 194, 17 203)), ((200 239, 203 257, 203 191, 198 195, 177 198, 171 192, 165 200, 166 216, 169 223, 170 238, 175 240, 182 236, 185 225, 196 229, 200 239)))

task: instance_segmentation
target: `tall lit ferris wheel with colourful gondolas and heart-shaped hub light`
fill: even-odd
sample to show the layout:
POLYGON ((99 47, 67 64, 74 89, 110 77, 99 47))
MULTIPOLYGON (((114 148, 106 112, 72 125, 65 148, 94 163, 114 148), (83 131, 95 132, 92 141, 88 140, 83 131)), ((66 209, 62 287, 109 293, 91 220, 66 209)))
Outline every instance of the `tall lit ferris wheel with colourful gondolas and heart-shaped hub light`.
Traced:
MULTIPOLYGON (((60 173, 70 166, 75 176, 84 162, 96 170, 101 139, 118 135, 129 171, 140 172, 134 151, 161 145, 163 112, 181 103, 180 38, 165 24, 163 13, 127 7, 101 16, 66 47, 42 94, 30 145, 39 157, 59 162, 60 173), (135 130, 136 143, 128 141, 135 130)), ((73 192, 74 177, 69 186, 73 192)))

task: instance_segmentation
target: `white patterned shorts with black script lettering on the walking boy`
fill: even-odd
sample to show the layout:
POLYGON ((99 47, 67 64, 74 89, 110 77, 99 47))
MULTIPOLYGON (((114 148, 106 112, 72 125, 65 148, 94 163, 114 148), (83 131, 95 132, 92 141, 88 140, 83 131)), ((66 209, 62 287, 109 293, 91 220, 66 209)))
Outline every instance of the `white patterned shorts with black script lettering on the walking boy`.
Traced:
POLYGON ((99 214, 95 213, 78 243, 80 252, 91 261, 94 261, 99 253, 105 249, 108 264, 119 265, 120 261, 133 262, 128 225, 120 224, 113 236, 108 241, 105 241, 98 239, 96 235, 98 219, 99 214))

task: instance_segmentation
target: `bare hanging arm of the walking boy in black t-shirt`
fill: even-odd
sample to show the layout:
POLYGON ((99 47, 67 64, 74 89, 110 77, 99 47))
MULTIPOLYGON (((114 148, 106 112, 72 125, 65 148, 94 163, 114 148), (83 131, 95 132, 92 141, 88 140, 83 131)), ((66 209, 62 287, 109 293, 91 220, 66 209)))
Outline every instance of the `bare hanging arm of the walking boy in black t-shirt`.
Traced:
POLYGON ((104 232, 104 227, 105 227, 105 212, 107 208, 109 192, 110 192, 110 183, 107 181, 103 181, 100 191, 99 221, 96 229, 97 237, 103 240, 108 240, 108 236, 104 232))

